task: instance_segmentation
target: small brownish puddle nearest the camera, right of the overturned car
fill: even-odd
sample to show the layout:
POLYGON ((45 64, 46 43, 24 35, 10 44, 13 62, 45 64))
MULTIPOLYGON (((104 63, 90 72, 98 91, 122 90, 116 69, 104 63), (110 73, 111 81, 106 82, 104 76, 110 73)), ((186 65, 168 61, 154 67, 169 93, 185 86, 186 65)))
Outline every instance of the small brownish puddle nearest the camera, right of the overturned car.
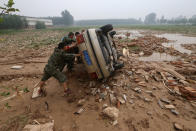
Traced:
POLYGON ((139 57, 140 61, 175 61, 179 57, 171 56, 166 53, 153 53, 151 56, 139 57))

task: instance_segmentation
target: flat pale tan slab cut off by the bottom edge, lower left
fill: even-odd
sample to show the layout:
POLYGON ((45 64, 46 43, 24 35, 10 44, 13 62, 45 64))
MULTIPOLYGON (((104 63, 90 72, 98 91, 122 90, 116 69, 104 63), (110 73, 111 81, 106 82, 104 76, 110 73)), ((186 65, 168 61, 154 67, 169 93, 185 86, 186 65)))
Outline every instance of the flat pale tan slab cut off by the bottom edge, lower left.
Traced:
POLYGON ((40 125, 26 125, 22 131, 53 131, 54 130, 54 120, 49 123, 40 125))

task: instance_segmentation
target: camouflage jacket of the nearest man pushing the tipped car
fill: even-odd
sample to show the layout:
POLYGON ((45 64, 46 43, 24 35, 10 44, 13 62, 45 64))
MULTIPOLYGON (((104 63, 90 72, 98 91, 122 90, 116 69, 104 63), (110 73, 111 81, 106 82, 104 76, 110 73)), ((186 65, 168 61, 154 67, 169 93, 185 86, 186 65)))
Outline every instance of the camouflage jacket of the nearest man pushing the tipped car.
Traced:
POLYGON ((48 60, 48 64, 45 67, 45 71, 51 71, 55 69, 63 70, 66 64, 69 64, 71 60, 74 59, 74 54, 66 53, 62 49, 58 49, 57 47, 54 49, 54 52, 50 56, 48 60))

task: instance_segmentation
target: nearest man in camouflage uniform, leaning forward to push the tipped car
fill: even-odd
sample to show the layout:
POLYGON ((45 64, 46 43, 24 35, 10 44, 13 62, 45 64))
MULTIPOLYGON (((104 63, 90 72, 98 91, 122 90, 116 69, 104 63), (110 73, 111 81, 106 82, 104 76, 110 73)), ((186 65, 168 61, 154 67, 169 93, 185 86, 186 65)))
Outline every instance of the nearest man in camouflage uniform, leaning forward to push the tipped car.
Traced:
POLYGON ((65 65, 69 65, 72 63, 73 59, 76 56, 80 56, 81 54, 70 54, 66 51, 76 46, 76 43, 72 42, 71 44, 67 44, 66 42, 59 43, 58 47, 54 49, 53 54, 50 56, 48 60, 48 64, 46 64, 44 68, 43 77, 39 83, 40 86, 40 95, 46 95, 46 91, 43 88, 45 82, 51 77, 55 77, 60 84, 64 87, 64 93, 66 94, 68 91, 66 76, 62 73, 65 65))

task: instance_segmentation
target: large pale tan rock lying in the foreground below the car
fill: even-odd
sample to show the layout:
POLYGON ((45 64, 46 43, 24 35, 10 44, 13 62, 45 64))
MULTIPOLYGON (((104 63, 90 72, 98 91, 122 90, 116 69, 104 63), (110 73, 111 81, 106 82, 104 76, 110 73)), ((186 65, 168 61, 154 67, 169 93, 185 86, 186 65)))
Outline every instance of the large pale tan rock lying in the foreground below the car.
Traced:
POLYGON ((116 107, 107 107, 103 110, 103 114, 112 120, 117 120, 119 115, 119 110, 116 107))

